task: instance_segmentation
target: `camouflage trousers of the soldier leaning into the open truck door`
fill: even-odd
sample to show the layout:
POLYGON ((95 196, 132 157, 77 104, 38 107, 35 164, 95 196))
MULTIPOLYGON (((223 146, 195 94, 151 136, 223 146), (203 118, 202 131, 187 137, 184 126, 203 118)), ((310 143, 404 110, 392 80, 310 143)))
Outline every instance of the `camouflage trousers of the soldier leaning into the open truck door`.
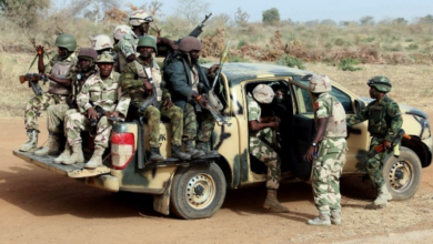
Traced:
MULTIPOLYGON (((272 130, 261 130, 256 136, 250 136, 250 154, 268 166, 266 189, 278 190, 281 176, 281 160, 276 152, 265 143, 271 138, 272 130), (266 139, 266 140, 265 140, 266 139)), ((268 143, 271 143, 268 141, 268 143)))

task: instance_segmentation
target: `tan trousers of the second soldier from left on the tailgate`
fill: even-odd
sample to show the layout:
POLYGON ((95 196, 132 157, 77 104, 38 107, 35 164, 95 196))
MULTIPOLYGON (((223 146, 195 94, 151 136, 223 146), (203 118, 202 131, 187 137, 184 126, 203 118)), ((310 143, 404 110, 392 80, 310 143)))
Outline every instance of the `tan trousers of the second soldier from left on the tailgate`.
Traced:
POLYGON ((67 114, 78 113, 78 110, 70 109, 68 104, 54 104, 47 109, 48 131, 56 134, 64 134, 63 124, 67 114))

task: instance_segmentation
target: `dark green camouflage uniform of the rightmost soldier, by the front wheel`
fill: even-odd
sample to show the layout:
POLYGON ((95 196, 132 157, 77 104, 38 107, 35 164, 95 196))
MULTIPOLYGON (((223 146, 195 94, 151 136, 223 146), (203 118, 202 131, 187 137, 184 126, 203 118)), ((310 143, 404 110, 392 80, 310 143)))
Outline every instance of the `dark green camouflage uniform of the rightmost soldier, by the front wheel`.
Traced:
MULTIPOLYGON (((372 135, 370 152, 386 140, 391 142, 403 124, 402 113, 399 104, 384 95, 381 100, 375 100, 360 111, 358 114, 346 119, 348 126, 369 120, 369 132, 372 135)), ((384 184, 382 174, 383 160, 386 153, 379 153, 374 157, 366 159, 366 170, 370 179, 380 189, 384 184)))

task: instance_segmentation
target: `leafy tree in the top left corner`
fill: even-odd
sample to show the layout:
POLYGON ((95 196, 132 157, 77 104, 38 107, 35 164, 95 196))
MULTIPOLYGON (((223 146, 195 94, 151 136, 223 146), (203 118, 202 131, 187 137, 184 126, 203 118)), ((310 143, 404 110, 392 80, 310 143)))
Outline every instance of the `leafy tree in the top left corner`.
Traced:
POLYGON ((40 11, 50 6, 51 0, 0 0, 0 10, 22 28, 34 24, 40 11))

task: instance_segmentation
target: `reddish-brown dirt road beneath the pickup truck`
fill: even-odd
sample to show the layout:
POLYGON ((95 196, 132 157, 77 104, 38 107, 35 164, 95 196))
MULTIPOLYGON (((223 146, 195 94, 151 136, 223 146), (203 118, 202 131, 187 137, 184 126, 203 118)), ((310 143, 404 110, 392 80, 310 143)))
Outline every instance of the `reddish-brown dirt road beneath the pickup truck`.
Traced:
MULTIPOLYGON (((43 142, 47 130, 40 121, 43 142)), ((91 189, 19 160, 12 150, 27 140, 23 120, 1 119, 0 128, 1 244, 431 243, 433 237, 433 166, 423 170, 412 200, 380 211, 364 210, 374 193, 360 179, 343 179, 340 226, 305 224, 316 210, 304 183, 282 185, 280 200, 290 207, 288 214, 261 209, 263 186, 229 191, 213 217, 183 221, 153 212, 151 196, 91 189)))

